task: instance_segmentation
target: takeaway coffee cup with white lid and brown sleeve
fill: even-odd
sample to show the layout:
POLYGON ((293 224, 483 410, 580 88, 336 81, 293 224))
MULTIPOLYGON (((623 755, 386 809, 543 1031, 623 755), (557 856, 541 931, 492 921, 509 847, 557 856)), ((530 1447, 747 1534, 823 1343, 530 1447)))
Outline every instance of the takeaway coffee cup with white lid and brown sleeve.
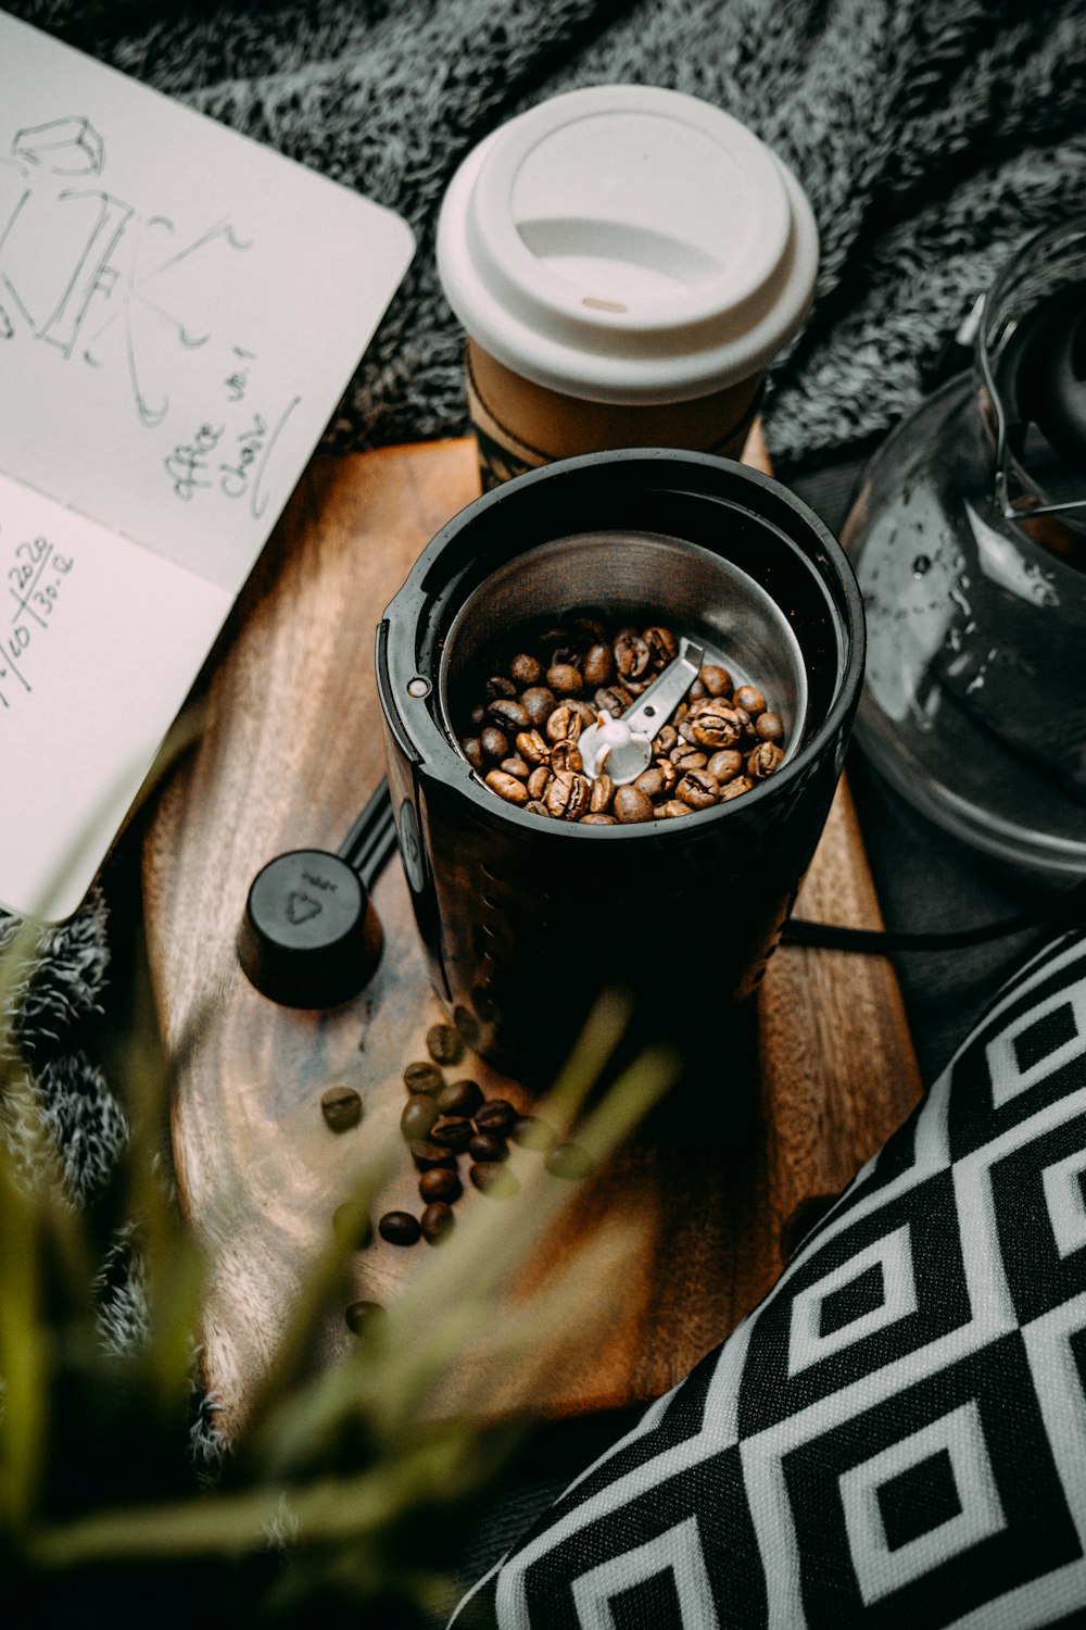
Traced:
POLYGON ((811 305, 795 176, 729 114, 599 85, 475 147, 438 220, 484 487, 615 447, 738 456, 811 305))

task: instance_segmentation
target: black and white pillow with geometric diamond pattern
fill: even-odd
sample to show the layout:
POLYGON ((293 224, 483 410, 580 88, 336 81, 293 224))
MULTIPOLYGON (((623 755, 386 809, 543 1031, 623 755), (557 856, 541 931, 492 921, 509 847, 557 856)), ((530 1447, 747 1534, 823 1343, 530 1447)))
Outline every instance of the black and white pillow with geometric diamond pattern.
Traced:
POLYGON ((1086 932, 459 1627, 1086 1625, 1086 932))

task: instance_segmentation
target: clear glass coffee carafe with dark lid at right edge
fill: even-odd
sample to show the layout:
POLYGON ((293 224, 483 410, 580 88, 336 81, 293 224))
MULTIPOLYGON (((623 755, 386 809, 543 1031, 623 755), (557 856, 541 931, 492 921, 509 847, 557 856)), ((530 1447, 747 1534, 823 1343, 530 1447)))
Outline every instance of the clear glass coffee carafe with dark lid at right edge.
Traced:
POLYGON ((842 541, 869 761, 977 849, 1086 877, 1086 217, 1005 266, 972 370, 886 440, 842 541))

